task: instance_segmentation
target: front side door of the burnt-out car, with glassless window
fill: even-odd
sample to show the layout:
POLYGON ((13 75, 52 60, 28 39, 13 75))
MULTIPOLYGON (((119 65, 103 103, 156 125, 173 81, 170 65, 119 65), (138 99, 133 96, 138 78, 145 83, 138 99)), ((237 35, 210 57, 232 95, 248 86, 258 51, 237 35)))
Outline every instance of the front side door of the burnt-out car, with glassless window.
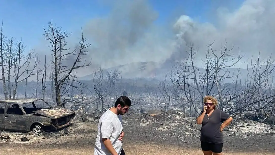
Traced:
POLYGON ((4 115, 5 130, 26 130, 26 115, 18 104, 8 104, 4 115))

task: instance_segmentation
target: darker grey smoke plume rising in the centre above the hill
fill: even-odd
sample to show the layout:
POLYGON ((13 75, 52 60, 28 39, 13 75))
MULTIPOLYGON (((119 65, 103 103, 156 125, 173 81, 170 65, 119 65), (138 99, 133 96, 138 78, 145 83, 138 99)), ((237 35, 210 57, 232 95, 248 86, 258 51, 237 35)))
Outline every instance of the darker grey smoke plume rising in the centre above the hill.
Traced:
POLYGON ((94 45, 94 64, 112 67, 140 61, 165 61, 173 44, 154 24, 158 13, 146 0, 118 0, 105 18, 92 19, 85 35, 94 45))

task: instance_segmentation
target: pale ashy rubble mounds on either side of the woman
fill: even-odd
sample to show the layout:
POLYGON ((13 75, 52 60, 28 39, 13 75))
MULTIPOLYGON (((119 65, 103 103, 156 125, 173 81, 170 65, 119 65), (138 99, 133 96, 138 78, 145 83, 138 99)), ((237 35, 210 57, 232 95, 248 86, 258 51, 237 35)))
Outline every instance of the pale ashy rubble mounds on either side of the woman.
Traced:
MULTIPOLYGON (((196 124, 196 117, 187 117, 183 113, 165 113, 161 111, 149 111, 149 117, 143 117, 139 126, 154 127, 155 130, 174 133, 175 137, 180 135, 198 135, 201 125, 196 124), (177 133, 177 134, 176 134, 177 133)), ((257 121, 237 120, 224 129, 225 134, 258 134, 275 135, 275 126, 257 121)))

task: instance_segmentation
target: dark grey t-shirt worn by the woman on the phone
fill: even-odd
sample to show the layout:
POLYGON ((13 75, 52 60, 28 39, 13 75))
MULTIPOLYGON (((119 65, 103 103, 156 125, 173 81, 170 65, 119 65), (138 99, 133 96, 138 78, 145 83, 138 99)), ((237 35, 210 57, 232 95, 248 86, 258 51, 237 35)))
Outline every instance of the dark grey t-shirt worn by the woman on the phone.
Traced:
MULTIPOLYGON (((201 114, 202 113, 203 111, 201 114)), ((215 144, 223 143, 223 136, 220 131, 220 127, 221 124, 229 117, 229 114, 219 109, 215 109, 209 117, 205 114, 202 121, 202 129, 200 131, 200 140, 202 142, 215 144)))

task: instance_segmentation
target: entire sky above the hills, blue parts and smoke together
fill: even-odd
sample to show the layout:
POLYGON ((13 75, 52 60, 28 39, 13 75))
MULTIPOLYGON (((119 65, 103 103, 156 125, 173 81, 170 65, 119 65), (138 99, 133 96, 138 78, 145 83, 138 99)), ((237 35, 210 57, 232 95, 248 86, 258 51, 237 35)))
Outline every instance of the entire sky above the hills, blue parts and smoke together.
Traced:
POLYGON ((41 57, 51 54, 42 36, 48 21, 73 33, 72 47, 82 27, 94 69, 178 59, 184 51, 177 47, 190 40, 199 46, 198 58, 214 40, 215 48, 227 40, 246 58, 270 55, 274 8, 274 0, 0 0, 0 19, 6 36, 21 37, 41 57))

